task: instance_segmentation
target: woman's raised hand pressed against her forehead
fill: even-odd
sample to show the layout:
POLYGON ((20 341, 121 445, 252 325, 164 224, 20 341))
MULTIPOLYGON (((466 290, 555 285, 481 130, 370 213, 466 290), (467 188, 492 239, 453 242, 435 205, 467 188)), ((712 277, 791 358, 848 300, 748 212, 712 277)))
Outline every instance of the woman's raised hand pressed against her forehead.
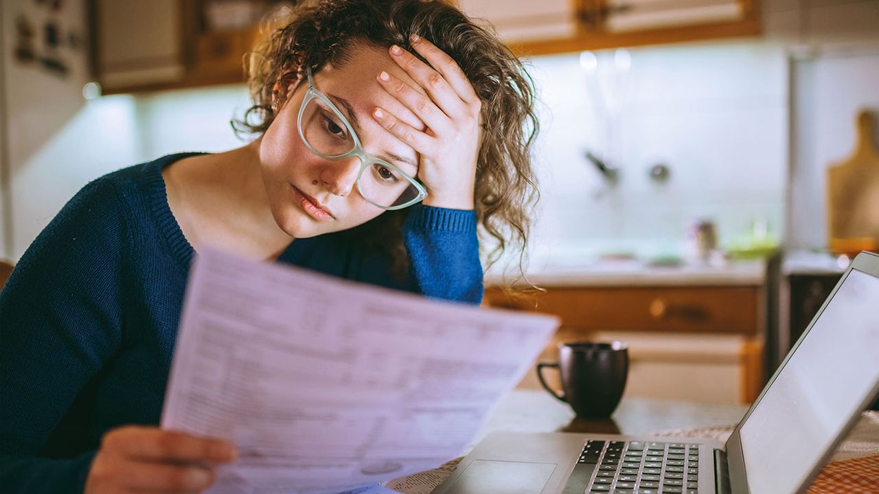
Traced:
POLYGON ((425 205, 473 209, 482 102, 452 57, 424 38, 413 36, 411 45, 430 65, 396 45, 390 55, 427 95, 384 71, 377 79, 427 128, 411 127, 384 108, 375 108, 373 117, 421 156, 418 178, 427 188, 425 205))

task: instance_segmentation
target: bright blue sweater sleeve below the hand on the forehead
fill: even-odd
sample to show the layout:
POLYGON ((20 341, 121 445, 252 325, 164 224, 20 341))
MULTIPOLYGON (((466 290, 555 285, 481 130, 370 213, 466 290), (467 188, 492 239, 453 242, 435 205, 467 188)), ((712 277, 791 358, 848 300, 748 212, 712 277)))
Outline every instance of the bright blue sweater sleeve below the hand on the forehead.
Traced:
POLYGON ((482 301, 475 211, 415 207, 403 223, 403 243, 415 291, 433 298, 482 301))

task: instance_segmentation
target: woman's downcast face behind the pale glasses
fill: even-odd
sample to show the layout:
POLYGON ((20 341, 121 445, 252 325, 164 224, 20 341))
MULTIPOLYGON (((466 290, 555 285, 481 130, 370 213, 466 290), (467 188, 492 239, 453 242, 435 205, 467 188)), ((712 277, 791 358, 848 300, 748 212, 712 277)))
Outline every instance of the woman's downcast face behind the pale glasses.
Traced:
MULTIPOLYGON (((315 87, 345 114, 367 153, 396 164, 412 177, 418 172, 418 154, 374 120, 376 106, 393 111, 411 126, 425 126, 376 81, 381 70, 418 88, 391 60, 385 48, 355 46, 344 67, 326 66, 314 74, 315 87)), ((422 91, 418 88, 419 91, 422 91)), ((302 142, 297 117, 308 84, 287 88, 287 102, 265 131, 259 159, 272 207, 272 216, 287 235, 306 238, 350 229, 378 216, 383 209, 360 196, 357 175, 360 159, 327 160, 302 142)), ((424 92, 424 91, 422 91, 424 92)))

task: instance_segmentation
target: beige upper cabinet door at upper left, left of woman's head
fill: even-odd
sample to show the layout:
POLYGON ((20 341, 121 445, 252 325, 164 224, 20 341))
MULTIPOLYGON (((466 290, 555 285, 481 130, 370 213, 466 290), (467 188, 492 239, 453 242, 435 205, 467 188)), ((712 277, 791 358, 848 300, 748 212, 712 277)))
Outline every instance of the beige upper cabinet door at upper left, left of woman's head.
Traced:
POLYGON ((179 0, 95 2, 95 69, 105 89, 183 79, 179 0))

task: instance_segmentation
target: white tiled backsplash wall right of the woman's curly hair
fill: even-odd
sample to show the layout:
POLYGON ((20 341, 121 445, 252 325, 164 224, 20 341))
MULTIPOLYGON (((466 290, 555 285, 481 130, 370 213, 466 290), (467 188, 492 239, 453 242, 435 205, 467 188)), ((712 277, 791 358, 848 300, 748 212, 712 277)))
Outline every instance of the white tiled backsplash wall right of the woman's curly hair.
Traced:
POLYGON ((537 163, 548 192, 534 256, 679 253, 697 217, 716 222, 722 243, 758 218, 780 232, 788 160, 781 47, 738 41, 629 54, 615 81, 613 52, 598 54, 592 72, 577 54, 533 61, 546 105, 537 163), (599 176, 585 149, 619 166, 617 185, 599 176), (648 177, 655 163, 671 168, 666 183, 648 177))

